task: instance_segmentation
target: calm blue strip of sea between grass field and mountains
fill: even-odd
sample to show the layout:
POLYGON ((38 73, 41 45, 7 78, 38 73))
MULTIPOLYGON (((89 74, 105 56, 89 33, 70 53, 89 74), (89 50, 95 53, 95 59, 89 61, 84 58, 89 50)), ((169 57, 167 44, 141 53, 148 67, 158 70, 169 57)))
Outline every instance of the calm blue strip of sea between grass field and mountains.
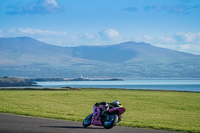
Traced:
POLYGON ((120 88, 200 92, 200 79, 125 79, 123 81, 40 81, 42 87, 120 88))

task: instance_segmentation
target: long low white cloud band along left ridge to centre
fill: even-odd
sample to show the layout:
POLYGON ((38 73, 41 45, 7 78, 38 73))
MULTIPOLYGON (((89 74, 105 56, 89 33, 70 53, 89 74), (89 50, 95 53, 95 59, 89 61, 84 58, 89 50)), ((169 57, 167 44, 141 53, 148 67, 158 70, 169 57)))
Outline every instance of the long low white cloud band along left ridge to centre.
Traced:
POLYGON ((59 46, 109 45, 122 41, 120 34, 113 29, 102 30, 97 33, 70 34, 67 32, 33 28, 12 28, 7 31, 2 31, 2 35, 2 37, 27 36, 59 46))

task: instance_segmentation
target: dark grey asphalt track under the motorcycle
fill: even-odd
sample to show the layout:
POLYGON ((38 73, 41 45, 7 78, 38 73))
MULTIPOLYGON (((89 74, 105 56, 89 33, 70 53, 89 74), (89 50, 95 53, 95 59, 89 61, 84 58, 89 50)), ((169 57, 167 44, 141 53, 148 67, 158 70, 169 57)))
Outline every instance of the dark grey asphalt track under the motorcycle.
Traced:
POLYGON ((35 118, 0 113, 0 133, 178 133, 152 129, 116 126, 112 129, 90 126, 81 122, 35 118))

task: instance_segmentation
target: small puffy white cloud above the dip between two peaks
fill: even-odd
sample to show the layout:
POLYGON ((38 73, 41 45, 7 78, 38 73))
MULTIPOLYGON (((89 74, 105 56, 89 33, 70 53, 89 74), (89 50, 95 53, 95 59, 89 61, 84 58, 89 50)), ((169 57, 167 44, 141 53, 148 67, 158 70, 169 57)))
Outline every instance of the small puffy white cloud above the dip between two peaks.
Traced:
POLYGON ((102 30, 99 32, 99 35, 104 40, 115 40, 120 38, 119 33, 113 29, 102 30))

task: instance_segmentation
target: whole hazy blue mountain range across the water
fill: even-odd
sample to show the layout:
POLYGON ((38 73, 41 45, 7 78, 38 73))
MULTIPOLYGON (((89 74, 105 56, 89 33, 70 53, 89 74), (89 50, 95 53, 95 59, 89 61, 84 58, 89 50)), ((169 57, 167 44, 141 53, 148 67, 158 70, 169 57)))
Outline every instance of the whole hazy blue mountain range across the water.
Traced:
POLYGON ((60 47, 28 37, 0 38, 0 76, 200 78, 200 56, 125 42, 60 47))

